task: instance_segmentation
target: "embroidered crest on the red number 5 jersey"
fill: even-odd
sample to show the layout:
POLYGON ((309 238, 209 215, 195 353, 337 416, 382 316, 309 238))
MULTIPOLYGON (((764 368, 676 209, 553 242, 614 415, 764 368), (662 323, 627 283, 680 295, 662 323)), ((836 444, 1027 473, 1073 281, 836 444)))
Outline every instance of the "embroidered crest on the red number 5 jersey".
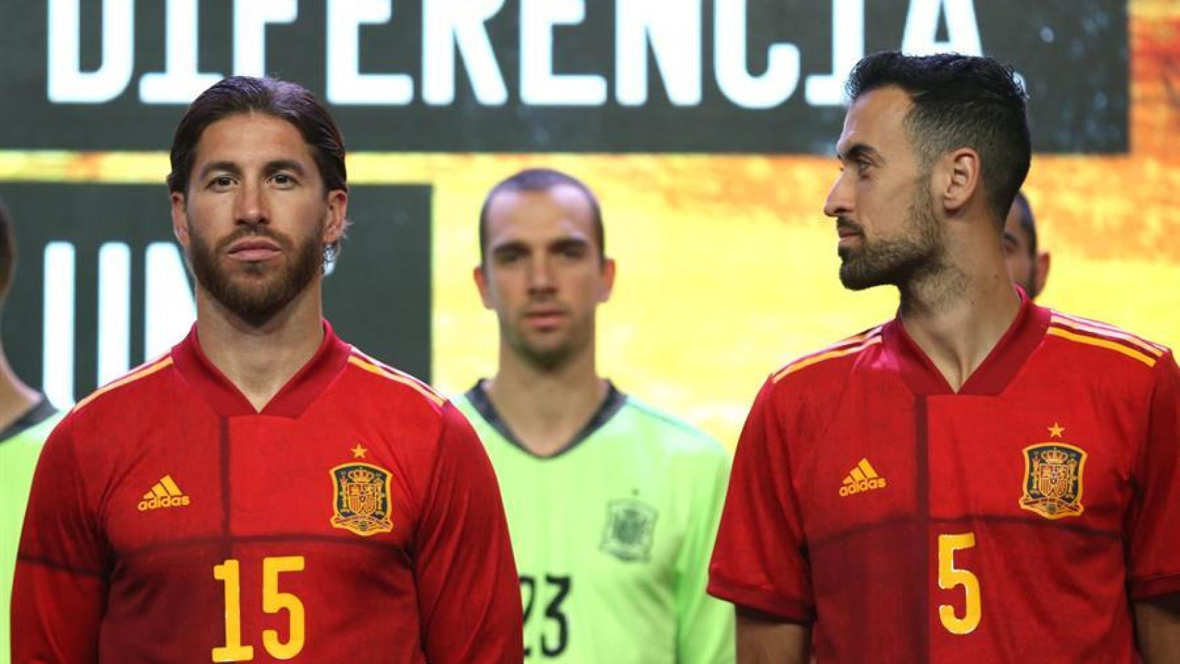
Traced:
POLYGON ((1022 508, 1045 519, 1077 517, 1082 505, 1082 469, 1086 451, 1063 442, 1042 442, 1024 448, 1022 508))

